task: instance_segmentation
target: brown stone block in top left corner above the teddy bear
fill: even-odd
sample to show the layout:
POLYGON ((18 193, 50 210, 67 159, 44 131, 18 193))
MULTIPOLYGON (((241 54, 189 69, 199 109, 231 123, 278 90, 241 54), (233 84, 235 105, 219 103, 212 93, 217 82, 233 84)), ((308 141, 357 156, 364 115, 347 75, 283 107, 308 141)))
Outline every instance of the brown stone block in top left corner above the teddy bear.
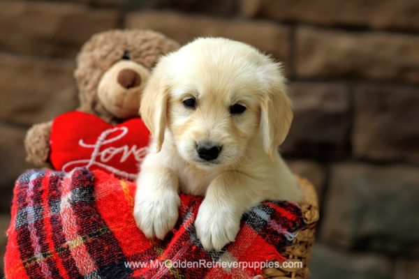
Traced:
POLYGON ((75 58, 91 35, 117 27, 115 10, 51 1, 0 1, 0 48, 8 52, 75 58))

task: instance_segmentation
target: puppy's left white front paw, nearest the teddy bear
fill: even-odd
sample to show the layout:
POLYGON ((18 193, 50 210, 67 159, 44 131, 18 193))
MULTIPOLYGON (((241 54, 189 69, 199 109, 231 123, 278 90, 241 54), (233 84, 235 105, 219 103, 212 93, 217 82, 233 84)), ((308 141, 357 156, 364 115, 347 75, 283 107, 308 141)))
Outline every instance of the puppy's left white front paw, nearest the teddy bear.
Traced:
POLYGON ((179 195, 175 192, 138 193, 135 198, 134 218, 137 226, 148 239, 164 236, 175 227, 180 205, 179 195))

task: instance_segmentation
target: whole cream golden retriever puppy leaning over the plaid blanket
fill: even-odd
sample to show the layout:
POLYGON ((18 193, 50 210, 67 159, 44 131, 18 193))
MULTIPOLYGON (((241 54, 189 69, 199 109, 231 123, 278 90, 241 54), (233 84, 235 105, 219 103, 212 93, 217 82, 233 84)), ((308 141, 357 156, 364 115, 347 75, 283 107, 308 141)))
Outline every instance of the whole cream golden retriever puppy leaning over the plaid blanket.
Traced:
POLYGON ((293 119, 284 82, 279 63, 225 38, 198 38, 160 59, 140 106, 152 142, 134 216, 147 237, 175 226, 179 191, 205 196, 195 226, 206 250, 234 241, 259 202, 300 199, 277 152, 293 119))

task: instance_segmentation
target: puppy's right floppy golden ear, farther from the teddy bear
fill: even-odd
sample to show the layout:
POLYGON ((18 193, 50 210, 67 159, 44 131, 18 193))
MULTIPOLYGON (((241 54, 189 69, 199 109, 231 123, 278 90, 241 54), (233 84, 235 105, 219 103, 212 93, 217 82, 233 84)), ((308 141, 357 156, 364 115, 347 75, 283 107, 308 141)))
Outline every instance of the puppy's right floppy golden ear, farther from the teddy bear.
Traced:
POLYGON ((286 81, 281 64, 268 63, 263 71, 267 84, 260 105, 260 131, 265 152, 274 158, 278 146, 284 142, 293 120, 291 100, 286 94, 286 81))

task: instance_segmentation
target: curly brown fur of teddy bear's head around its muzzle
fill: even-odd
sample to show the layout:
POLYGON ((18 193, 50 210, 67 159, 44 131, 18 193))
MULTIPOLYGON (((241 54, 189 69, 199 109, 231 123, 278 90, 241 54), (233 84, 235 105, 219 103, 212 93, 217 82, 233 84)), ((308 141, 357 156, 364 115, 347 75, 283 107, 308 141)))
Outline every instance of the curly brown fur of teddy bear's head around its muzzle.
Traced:
POLYGON ((131 61, 152 68, 159 56, 177 50, 179 45, 154 31, 108 31, 93 36, 78 55, 75 79, 78 82, 80 109, 117 122, 98 102, 97 86, 105 71, 130 52, 131 61))

